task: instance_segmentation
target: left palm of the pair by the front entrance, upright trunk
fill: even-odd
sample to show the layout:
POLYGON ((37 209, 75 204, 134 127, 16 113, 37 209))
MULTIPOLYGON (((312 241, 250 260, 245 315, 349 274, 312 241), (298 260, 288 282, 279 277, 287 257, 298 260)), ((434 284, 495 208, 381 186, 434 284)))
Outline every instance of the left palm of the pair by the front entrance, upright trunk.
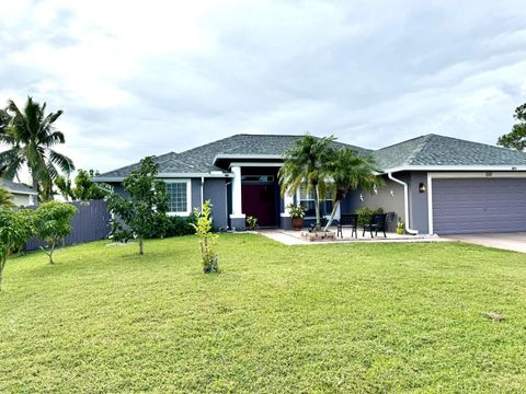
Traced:
POLYGON ((285 152, 284 164, 279 169, 282 195, 287 190, 296 193, 298 187, 307 186, 315 195, 316 230, 321 230, 320 197, 325 194, 327 164, 334 151, 334 137, 316 138, 306 135, 296 141, 296 146, 285 152))

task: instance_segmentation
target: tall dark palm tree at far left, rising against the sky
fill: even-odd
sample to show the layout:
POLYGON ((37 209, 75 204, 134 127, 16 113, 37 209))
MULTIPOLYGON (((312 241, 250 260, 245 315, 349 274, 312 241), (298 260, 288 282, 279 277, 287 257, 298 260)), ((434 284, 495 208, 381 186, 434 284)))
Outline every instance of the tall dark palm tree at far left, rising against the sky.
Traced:
POLYGON ((65 143, 64 134, 54 126, 62 112, 46 115, 46 103, 39 105, 32 97, 27 97, 23 111, 10 100, 5 112, 9 124, 0 130, 0 142, 11 149, 0 153, 0 175, 13 178, 26 164, 33 189, 44 200, 50 198, 53 181, 59 170, 66 174, 75 170, 71 159, 52 149, 57 143, 65 143))

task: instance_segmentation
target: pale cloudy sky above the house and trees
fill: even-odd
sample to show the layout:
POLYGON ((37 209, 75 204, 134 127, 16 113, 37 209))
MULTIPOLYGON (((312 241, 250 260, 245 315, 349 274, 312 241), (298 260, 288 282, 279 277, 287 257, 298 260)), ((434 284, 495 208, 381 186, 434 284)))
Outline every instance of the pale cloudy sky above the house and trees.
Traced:
POLYGON ((492 143, 526 102, 521 1, 0 0, 0 105, 110 171, 235 134, 492 143))

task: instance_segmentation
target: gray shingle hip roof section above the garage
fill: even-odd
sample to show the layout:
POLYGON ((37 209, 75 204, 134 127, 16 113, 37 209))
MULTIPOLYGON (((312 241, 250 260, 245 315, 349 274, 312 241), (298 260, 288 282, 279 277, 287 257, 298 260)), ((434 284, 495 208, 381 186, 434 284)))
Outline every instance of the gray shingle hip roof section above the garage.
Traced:
POLYGON ((379 149, 374 157, 384 170, 411 166, 526 165, 526 153, 433 134, 379 149))

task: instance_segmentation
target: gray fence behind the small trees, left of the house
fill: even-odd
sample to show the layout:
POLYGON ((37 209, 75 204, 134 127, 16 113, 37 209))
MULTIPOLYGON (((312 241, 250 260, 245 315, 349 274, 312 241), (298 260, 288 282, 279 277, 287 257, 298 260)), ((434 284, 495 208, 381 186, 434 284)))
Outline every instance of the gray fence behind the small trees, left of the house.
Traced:
MULTIPOLYGON (((104 200, 69 202, 78 211, 71 219, 71 233, 64 240, 65 245, 99 241, 110 232, 110 211, 104 200)), ((33 237, 25 244, 25 251, 35 251, 46 245, 39 237, 33 237)))

